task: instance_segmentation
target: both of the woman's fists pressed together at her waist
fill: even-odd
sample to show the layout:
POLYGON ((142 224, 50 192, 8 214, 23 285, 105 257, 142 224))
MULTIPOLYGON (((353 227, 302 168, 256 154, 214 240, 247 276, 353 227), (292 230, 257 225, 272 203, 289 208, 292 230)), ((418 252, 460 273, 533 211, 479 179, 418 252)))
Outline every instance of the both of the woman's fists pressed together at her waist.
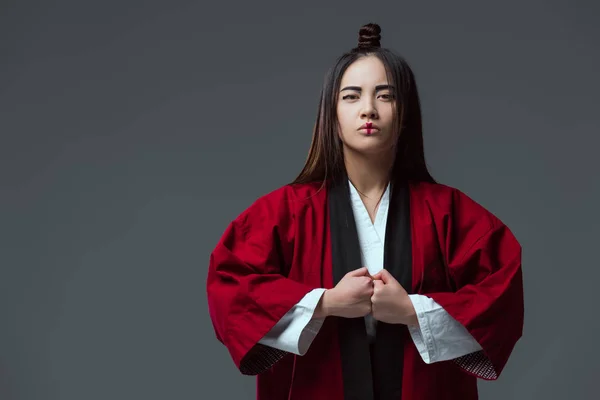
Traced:
POLYGON ((387 270, 370 276, 367 268, 348 272, 333 288, 325 291, 317 316, 344 318, 373 314, 377 321, 415 325, 415 309, 406 290, 387 270))

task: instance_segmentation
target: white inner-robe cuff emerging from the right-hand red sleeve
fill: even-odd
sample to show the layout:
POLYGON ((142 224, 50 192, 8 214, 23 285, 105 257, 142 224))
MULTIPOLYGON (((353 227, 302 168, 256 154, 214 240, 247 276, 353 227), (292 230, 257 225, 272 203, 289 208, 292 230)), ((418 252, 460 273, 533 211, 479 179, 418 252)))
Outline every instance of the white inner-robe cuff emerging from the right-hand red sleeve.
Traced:
POLYGON ((456 359, 481 350, 481 346, 459 322, 429 297, 408 296, 415 309, 418 324, 408 331, 427 364, 456 359))

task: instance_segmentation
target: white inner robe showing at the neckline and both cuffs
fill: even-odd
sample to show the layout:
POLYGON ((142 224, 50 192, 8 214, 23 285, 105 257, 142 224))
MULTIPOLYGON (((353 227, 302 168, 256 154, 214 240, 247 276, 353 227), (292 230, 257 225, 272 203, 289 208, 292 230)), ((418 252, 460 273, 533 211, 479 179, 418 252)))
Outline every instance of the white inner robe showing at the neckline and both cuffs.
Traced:
MULTIPOLYGON (((371 218, 356 188, 350 183, 350 196, 361 249, 361 259, 371 275, 383 269, 385 227, 390 202, 390 186, 379 204, 375 221, 371 218)), ((325 289, 314 289, 294 306, 260 343, 290 353, 304 355, 318 334, 323 319, 312 318, 325 289)), ((409 326, 411 338, 425 363, 455 359, 481 350, 467 329, 431 298, 412 294, 418 326, 409 326)), ((376 321, 366 318, 367 332, 374 332, 376 321)), ((372 334, 372 333, 371 333, 372 334)))

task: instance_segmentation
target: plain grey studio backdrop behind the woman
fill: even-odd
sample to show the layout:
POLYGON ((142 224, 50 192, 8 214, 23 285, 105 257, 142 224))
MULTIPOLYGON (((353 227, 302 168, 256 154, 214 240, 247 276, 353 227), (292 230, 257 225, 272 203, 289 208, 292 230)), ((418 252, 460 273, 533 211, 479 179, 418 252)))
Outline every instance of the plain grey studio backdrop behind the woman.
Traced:
POLYGON ((208 256, 299 172, 323 76, 371 21, 416 72, 434 176, 524 248, 525 336, 481 398, 597 398, 599 11, 2 0, 0 399, 254 398, 208 256))

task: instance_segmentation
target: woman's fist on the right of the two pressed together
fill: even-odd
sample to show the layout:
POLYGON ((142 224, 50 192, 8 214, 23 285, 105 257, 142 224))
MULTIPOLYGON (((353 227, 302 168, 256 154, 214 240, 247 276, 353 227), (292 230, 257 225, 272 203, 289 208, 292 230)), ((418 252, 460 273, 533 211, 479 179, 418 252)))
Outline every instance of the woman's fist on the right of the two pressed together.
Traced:
POLYGON ((388 324, 417 325, 417 314, 402 285, 383 269, 373 277, 373 318, 388 324))

